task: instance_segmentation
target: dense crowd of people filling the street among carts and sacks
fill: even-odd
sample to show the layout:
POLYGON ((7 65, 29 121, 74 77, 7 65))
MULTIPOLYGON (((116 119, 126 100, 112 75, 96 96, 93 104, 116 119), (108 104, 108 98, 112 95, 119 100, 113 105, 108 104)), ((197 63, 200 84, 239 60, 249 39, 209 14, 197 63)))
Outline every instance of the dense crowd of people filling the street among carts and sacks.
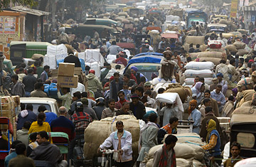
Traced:
MULTIPOLYGON (((215 14, 225 12, 223 9, 215 14)), ((35 166, 36 161, 49 161, 54 166, 68 166, 67 161, 64 161, 60 154, 60 149, 54 143, 70 143, 67 158, 69 161, 73 158, 73 149, 77 139, 91 122, 124 114, 142 119, 146 125, 139 134, 139 156, 134 159, 132 134, 125 130, 123 122, 116 122, 117 131, 112 132, 98 149, 100 152, 112 146, 117 151, 117 155, 114 156, 115 166, 132 166, 134 161, 137 161, 137 166, 146 166, 143 162, 145 153, 149 153, 152 147, 162 144, 163 141, 164 145, 154 153, 153 166, 176 166, 174 146, 178 139, 172 134, 177 134, 178 121, 182 119, 193 121, 193 132, 200 135, 202 141, 206 142, 202 148, 209 153, 208 156, 213 166, 221 165, 225 145, 230 145, 231 154, 229 155, 228 150, 230 158, 224 157, 223 166, 234 166, 240 161, 242 159, 240 144, 225 143, 217 117, 232 117, 241 99, 238 96, 238 92, 241 91, 238 91, 235 86, 241 79, 246 80, 247 77, 251 77, 251 81, 256 83, 256 29, 254 24, 250 23, 249 32, 240 38, 225 38, 224 32, 208 33, 206 25, 203 26, 203 23, 199 22, 191 23, 191 28, 186 30, 178 30, 177 40, 161 37, 160 33, 149 38, 134 38, 137 35, 149 34, 146 27, 160 27, 164 23, 162 16, 165 15, 163 13, 159 15, 159 18, 144 16, 134 21, 133 30, 120 31, 114 26, 119 31, 115 35, 106 28, 102 33, 98 33, 95 29, 93 36, 76 34, 74 40, 70 41, 68 34, 62 31, 58 36, 58 43, 63 43, 68 48, 68 57, 64 59, 64 63, 75 63, 76 68, 82 66, 76 55, 80 52, 80 45, 85 45, 86 49, 100 49, 104 59, 100 75, 97 75, 97 72, 89 66, 85 66, 84 80, 79 80, 76 88, 60 87, 58 80, 51 77, 50 66, 43 66, 43 58, 36 60, 29 67, 25 63, 17 65, 14 75, 3 73, 4 95, 50 97, 56 99, 59 104, 57 115, 49 112, 43 105, 35 111, 33 105, 21 103, 21 111, 18 112, 16 122, 17 140, 11 144, 11 151, 9 156, 6 156, 4 165, 35 166), (204 77, 196 76, 191 85, 191 93, 186 94, 185 103, 188 107, 183 106, 184 113, 178 109, 176 104, 156 100, 156 96, 165 93, 166 89, 160 87, 155 91, 152 80, 161 78, 166 82, 174 81, 176 84, 186 85, 185 65, 192 61, 189 54, 204 51, 201 45, 196 45, 195 48, 193 43, 186 50, 183 47, 186 36, 204 36, 204 44, 208 45, 208 41, 219 41, 223 48, 241 41, 252 51, 250 55, 242 56, 227 52, 227 59, 220 60, 213 69, 211 85, 206 84, 204 77), (131 55, 127 55, 124 48, 119 47, 117 43, 134 43, 135 50, 131 50, 131 55), (122 72, 122 68, 127 67, 129 60, 133 58, 132 55, 147 52, 164 55, 160 63, 159 76, 152 72, 151 78, 146 77, 136 66, 122 72), (108 55, 116 55, 116 58, 111 63, 107 62, 108 55), (228 94, 230 87, 232 87, 231 95, 228 94), (151 108, 156 112, 146 112, 146 108, 151 108), (51 137, 47 132, 65 132, 68 134, 68 141, 51 137), (164 139, 166 134, 170 135, 164 139)), ((245 29, 242 19, 230 18, 228 21, 232 21, 236 29, 245 29)), ((220 19, 216 19, 212 23, 219 23, 219 21, 220 19)), ((228 27, 227 31, 231 31, 231 27, 228 27)), ((252 88, 256 91, 256 86, 252 88)), ((255 105, 255 102, 254 95, 252 105, 255 105)))

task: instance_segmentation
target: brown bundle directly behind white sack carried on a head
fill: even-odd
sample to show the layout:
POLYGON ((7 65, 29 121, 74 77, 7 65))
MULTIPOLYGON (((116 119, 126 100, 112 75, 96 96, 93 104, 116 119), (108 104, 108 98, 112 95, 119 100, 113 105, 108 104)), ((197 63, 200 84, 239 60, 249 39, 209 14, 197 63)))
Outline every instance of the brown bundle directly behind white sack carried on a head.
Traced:
POLYGON ((181 98, 181 102, 184 103, 186 101, 186 97, 188 97, 188 95, 190 94, 191 89, 189 87, 183 87, 177 84, 169 84, 169 86, 166 87, 166 92, 178 93, 178 96, 181 98))

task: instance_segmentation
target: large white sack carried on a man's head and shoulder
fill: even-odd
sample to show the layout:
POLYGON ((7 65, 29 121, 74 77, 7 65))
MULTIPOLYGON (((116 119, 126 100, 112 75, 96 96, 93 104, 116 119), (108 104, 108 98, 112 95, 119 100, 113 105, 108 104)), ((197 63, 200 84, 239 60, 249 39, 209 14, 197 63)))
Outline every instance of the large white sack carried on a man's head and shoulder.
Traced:
POLYGON ((181 98, 178 96, 178 93, 165 92, 162 94, 158 94, 158 95, 156 95, 156 100, 159 102, 175 104, 178 107, 179 111, 184 112, 181 98))

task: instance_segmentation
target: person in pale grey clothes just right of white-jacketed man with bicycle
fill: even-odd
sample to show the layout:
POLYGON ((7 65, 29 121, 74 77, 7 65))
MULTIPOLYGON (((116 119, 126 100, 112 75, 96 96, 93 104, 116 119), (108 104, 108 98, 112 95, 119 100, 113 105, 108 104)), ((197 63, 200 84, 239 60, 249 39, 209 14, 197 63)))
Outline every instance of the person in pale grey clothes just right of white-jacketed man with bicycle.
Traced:
POLYGON ((158 144, 157 131, 159 131, 159 127, 156 125, 157 117, 154 113, 150 114, 149 122, 144 126, 139 135, 139 147, 141 146, 142 148, 139 151, 138 162, 142 163, 145 153, 149 153, 149 149, 158 144))

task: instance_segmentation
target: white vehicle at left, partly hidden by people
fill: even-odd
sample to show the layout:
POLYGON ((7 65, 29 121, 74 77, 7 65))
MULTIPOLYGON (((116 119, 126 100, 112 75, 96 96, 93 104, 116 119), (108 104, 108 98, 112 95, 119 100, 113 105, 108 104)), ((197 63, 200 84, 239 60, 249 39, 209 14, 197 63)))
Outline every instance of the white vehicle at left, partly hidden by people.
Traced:
POLYGON ((21 103, 24 104, 32 104, 33 105, 33 112, 38 113, 38 107, 40 105, 46 106, 46 109, 49 112, 54 112, 58 115, 58 105, 57 101, 52 98, 48 97, 21 97, 21 103))

